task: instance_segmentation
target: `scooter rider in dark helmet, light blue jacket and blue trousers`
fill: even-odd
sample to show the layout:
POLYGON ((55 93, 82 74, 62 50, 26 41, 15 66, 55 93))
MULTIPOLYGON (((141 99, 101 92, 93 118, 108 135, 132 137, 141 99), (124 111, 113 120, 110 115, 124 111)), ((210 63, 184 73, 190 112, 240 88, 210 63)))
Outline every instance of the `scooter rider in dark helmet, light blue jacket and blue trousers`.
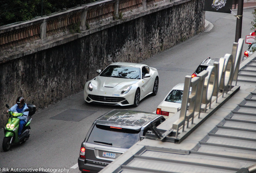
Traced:
MULTIPOLYGON (((23 97, 18 97, 16 100, 16 104, 6 112, 8 113, 9 111, 12 111, 17 113, 22 113, 22 111, 25 109, 28 109, 27 104, 25 103, 25 99, 23 97)), ((20 119, 18 137, 21 135, 23 126, 25 125, 25 123, 27 123, 28 115, 29 115, 29 112, 27 111, 27 112, 23 112, 23 116, 17 117, 18 119, 20 119)))

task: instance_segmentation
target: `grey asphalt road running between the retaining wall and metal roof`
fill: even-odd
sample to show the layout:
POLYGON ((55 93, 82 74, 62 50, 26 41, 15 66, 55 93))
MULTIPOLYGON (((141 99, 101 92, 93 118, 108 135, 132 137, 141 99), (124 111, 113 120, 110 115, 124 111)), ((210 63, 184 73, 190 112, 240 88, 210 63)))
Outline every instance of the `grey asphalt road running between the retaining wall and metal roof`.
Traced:
MULTIPOLYGON (((244 9, 242 38, 252 32, 250 28, 253 9, 244 9)), ((233 14, 206 12, 206 20, 214 25, 211 31, 198 34, 142 62, 158 69, 159 91, 156 96, 145 98, 137 108, 118 107, 89 105, 83 100, 81 91, 55 105, 39 110, 32 117, 29 140, 24 144, 12 146, 8 152, 0 149, 0 172, 4 171, 3 168, 33 168, 44 172, 65 168, 64 172, 69 169, 69 173, 79 173, 77 158, 80 145, 97 117, 112 109, 154 112, 171 87, 184 82, 184 77, 191 75, 202 60, 209 56, 221 58, 226 53, 231 53, 236 26, 233 14)), ((248 44, 244 42, 243 53, 247 48, 248 44)), ((1 129, 1 144, 3 137, 1 129)))

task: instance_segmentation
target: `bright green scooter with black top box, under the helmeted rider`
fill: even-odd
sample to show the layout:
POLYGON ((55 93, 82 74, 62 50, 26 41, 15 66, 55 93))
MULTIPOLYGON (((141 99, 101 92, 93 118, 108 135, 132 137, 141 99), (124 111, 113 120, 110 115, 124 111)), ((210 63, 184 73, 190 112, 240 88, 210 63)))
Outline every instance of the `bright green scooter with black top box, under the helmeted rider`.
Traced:
MULTIPOLYGON (((9 106, 6 104, 6 107, 8 109, 9 106)), ((31 116, 35 114, 36 107, 35 105, 32 104, 27 104, 27 107, 29 109, 25 109, 23 112, 29 111, 28 119, 27 119, 27 124, 24 125, 20 137, 18 137, 18 131, 19 131, 19 123, 20 119, 17 117, 23 116, 22 113, 17 113, 17 112, 12 112, 9 111, 7 114, 9 114, 8 122, 6 126, 4 127, 4 139, 3 139, 3 144, 2 148, 4 151, 10 150, 10 147, 12 143, 25 143, 29 139, 29 129, 30 128, 30 123, 31 123, 31 116)))

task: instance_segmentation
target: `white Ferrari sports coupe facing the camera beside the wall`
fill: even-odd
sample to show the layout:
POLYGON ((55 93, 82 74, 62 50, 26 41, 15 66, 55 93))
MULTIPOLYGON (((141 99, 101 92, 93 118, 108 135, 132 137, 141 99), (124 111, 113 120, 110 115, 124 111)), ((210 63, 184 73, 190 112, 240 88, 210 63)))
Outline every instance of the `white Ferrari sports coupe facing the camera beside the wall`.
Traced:
POLYGON ((137 107, 146 96, 157 95, 157 69, 145 64, 114 62, 97 73, 99 76, 85 84, 87 103, 137 107))

